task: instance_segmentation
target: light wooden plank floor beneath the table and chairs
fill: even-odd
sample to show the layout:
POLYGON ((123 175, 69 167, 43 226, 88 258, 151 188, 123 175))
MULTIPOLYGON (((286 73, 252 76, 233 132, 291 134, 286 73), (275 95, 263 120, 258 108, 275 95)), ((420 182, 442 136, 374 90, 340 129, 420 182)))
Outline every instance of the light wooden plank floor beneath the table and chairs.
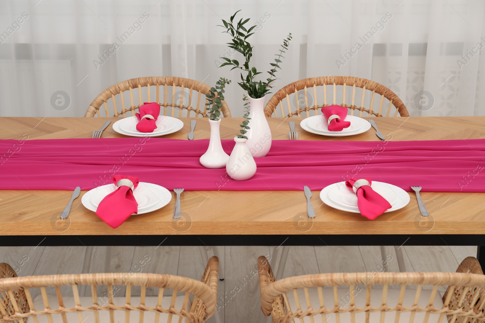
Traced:
MULTIPOLYGON (((476 256, 476 246, 403 246, 407 271, 454 272, 468 256, 476 256)), ((281 247, 278 252, 281 253, 281 247)), ((19 276, 81 273, 86 248, 80 247, 0 247, 0 262, 9 263, 19 276)), ((219 247, 218 306, 223 322, 268 322, 259 301, 258 256, 270 256, 270 246, 219 247), (239 288, 236 288, 238 286, 239 288), (239 292, 235 292, 239 291, 239 292)), ((390 271, 398 271, 394 248, 390 271)), ((90 272, 163 273, 200 279, 204 265, 196 246, 119 246, 113 247, 111 264, 105 262, 106 247, 94 247, 90 272), (140 261, 146 260, 142 267, 140 261)), ((209 250, 209 256, 213 252, 209 250)), ((279 255, 278 255, 279 259, 279 255)), ((284 277, 331 272, 378 271, 379 246, 292 246, 284 277)), ((277 268, 275 268, 277 270, 277 268)), ((72 294, 72 290, 70 291, 72 294)), ((89 291, 88 291, 89 292, 89 291)), ((87 292, 87 294, 88 294, 87 292)), ((120 291, 123 293, 124 291, 120 291)), ((443 291, 442 291, 443 292, 443 291)), ((51 293, 54 293, 52 290, 51 293)), ((132 292, 135 294, 135 290, 132 292)), ((63 291, 68 295, 69 290, 63 291)), ((86 294, 86 295, 87 295, 86 294)), ((121 294, 116 296, 122 296, 121 294)), ((214 322, 211 318, 208 322, 214 322)))

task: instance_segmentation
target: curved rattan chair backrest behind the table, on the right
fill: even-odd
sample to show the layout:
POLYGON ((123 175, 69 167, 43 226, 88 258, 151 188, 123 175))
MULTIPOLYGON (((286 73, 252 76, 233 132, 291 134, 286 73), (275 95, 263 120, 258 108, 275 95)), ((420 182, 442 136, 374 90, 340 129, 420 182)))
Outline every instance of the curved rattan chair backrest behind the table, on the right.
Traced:
POLYGON ((318 109, 329 105, 347 107, 350 109, 351 115, 358 113, 359 117, 372 115, 376 117, 396 117, 398 115, 409 117, 403 101, 384 85, 360 77, 338 76, 310 77, 288 84, 273 95, 266 104, 264 113, 267 117, 273 115, 275 117, 292 117, 294 115, 309 117, 310 110, 314 110, 316 115, 318 109), (333 95, 329 94, 329 96, 333 96, 333 100, 330 103, 327 101, 327 85, 332 87, 331 91, 333 92, 333 95), (338 87, 340 85, 342 86, 341 88, 338 87), (320 88, 323 88, 323 93, 321 93, 322 90, 320 88), (356 92, 356 88, 358 92, 356 92), (302 90, 304 91, 303 93, 301 93, 302 90), (320 104, 317 101, 317 92, 320 92, 318 95, 320 104), (339 97, 342 98, 341 102, 337 101, 337 92, 339 92, 339 97), (366 92, 368 92, 367 96, 366 92), (378 97, 376 97, 376 93, 378 97), (378 108, 374 108, 374 101, 380 102, 378 108), (348 104, 349 102, 350 105, 348 104), (279 108, 277 108, 278 104, 279 108))

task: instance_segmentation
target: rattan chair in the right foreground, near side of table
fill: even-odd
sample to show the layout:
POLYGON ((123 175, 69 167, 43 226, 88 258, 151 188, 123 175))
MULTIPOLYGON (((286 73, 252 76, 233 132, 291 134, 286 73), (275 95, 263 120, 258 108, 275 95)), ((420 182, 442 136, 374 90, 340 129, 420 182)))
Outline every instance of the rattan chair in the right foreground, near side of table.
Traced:
POLYGON ((258 258, 261 309, 273 322, 475 323, 484 322, 485 281, 468 257, 456 273, 338 273, 276 280, 258 258), (400 285, 393 289, 390 285, 400 285), (416 289, 406 289, 417 285, 416 289), (428 285, 431 289, 423 289, 428 285), (448 287, 439 294, 440 286, 448 287), (326 288, 327 287, 327 288, 326 288))

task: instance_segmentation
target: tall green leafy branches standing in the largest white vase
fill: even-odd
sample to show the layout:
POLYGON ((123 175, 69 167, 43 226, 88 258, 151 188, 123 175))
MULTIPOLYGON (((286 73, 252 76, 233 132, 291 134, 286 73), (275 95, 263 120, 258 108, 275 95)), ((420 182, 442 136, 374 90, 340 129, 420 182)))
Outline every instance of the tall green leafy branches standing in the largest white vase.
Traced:
POLYGON ((221 57, 226 62, 222 63, 219 67, 230 65, 233 66, 231 71, 235 68, 239 68, 240 70, 247 72, 245 78, 242 76, 241 72, 241 82, 238 82, 238 84, 243 90, 247 91, 250 97, 258 99, 264 97, 264 95, 266 95, 272 88, 271 83, 276 80, 276 68, 281 69, 278 63, 281 63, 281 58, 284 58, 282 54, 285 53, 285 50, 288 50, 289 42, 293 37, 290 33, 287 38, 283 40, 283 45, 280 45, 282 49, 279 49, 279 54, 275 54, 275 56, 277 56, 275 63, 270 64, 273 66, 273 68, 268 71, 270 77, 266 78, 265 81, 260 80, 258 82, 255 80, 255 77, 262 72, 258 72, 256 67, 249 67, 249 61, 253 56, 253 46, 251 46, 251 44, 247 41, 247 38, 254 34, 252 31, 257 25, 246 29, 244 25, 249 21, 249 18, 245 19, 244 21, 242 20, 243 18, 241 18, 237 23, 234 23, 234 17, 240 11, 241 10, 236 11, 236 13, 229 18, 229 21, 223 19, 222 23, 224 26, 218 26, 224 27, 226 29, 224 32, 232 36, 232 43, 226 44, 229 48, 232 48, 242 54, 244 57, 244 63, 241 65, 237 60, 230 60, 226 57, 221 57), (234 26, 234 24, 236 26, 234 26))

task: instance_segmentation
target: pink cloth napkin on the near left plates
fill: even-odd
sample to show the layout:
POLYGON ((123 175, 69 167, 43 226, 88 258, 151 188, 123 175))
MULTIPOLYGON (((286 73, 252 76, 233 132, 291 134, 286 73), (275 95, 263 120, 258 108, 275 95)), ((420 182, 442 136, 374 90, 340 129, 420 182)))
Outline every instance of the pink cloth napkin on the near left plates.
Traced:
MULTIPOLYGON (((138 186, 138 177, 129 175, 114 175, 114 185, 117 185, 121 179, 130 180, 133 183, 133 189, 138 186)), ((113 193, 106 195, 96 210, 96 215, 113 229, 119 227, 133 213, 138 213, 138 203, 131 188, 125 185, 119 186, 113 193)))

